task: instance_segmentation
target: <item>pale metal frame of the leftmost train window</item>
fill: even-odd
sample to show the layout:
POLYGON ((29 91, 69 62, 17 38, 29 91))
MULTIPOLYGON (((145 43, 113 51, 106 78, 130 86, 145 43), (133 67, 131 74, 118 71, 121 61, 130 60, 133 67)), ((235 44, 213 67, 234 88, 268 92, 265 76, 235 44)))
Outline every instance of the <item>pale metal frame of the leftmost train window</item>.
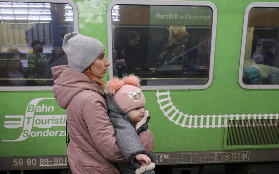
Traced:
MULTIPOLYGON (((26 0, 0 0, 1 2, 31 2, 26 0)), ((73 9, 74 32, 79 32, 78 9, 72 0, 36 0, 36 3, 69 4, 73 9)), ((53 91, 53 86, 0 86, 0 91, 53 91)))

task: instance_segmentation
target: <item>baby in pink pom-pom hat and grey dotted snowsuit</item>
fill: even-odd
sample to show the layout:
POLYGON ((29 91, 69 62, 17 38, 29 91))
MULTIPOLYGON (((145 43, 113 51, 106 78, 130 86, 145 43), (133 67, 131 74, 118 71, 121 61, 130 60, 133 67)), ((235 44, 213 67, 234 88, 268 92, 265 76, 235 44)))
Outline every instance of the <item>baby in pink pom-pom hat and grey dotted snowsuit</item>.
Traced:
MULTIPOLYGON (((106 103, 109 118, 115 129, 117 145, 128 163, 118 163, 121 174, 155 174, 155 164, 151 162, 152 152, 146 151, 138 134, 147 130, 150 116, 145 107, 145 97, 139 88, 140 80, 134 75, 122 80, 113 78, 107 82, 106 103), (140 163, 142 165, 140 165, 140 163)), ((152 138, 150 141, 153 141, 152 138)))

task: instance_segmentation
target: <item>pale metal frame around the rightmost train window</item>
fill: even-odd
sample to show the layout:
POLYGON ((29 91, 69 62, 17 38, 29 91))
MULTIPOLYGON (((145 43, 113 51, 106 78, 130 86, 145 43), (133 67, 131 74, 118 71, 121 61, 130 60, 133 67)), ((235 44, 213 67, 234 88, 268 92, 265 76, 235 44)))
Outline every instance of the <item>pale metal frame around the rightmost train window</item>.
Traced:
POLYGON ((243 83, 243 65, 244 65, 244 56, 245 56, 245 47, 246 47, 248 17, 249 17, 249 11, 254 7, 279 8, 279 3, 278 2, 253 2, 246 7, 244 13, 244 21, 243 21, 238 83, 244 89, 279 89, 279 85, 246 85, 243 83))

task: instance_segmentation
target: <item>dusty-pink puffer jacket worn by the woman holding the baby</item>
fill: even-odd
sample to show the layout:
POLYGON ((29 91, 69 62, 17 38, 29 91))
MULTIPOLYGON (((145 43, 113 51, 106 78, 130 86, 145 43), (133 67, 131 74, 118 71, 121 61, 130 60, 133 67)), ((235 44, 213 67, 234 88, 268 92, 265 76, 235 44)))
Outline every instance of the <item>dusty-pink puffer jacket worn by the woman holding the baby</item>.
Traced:
MULTIPOLYGON (((67 109, 70 142, 67 155, 73 174, 119 174, 114 162, 124 162, 107 114, 104 90, 68 65, 52 67, 54 97, 67 109)), ((140 134, 147 153, 154 148, 152 133, 140 134)))

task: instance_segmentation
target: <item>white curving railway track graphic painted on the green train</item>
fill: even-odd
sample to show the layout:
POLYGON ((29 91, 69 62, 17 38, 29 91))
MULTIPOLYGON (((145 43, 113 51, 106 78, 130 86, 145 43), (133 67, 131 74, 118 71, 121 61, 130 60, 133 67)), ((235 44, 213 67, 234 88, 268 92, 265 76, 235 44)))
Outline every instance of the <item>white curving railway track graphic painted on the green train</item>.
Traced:
POLYGON ((172 104, 170 92, 159 92, 157 90, 157 103, 160 105, 161 111, 172 122, 182 127, 188 128, 214 128, 227 126, 278 126, 278 113, 276 114, 236 114, 236 115, 188 115, 180 112, 172 104), (270 119, 269 122, 258 125, 256 120, 270 119), (228 120, 240 120, 236 125, 228 125, 228 120), (248 120, 245 121, 244 120, 248 120), (273 121, 272 121, 273 120, 273 121))

